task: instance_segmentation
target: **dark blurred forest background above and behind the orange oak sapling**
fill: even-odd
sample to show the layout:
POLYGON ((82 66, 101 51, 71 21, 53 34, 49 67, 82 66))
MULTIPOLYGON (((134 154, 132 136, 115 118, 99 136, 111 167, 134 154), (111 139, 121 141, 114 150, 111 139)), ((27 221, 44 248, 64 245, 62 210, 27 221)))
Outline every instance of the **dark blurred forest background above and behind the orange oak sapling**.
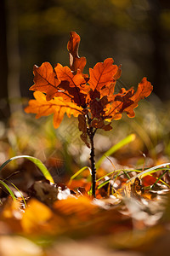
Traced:
POLYGON ((31 97, 32 67, 68 65, 69 32, 82 38, 87 70, 112 57, 122 83, 146 76, 161 101, 170 96, 170 2, 167 0, 1 0, 0 117, 31 97), (10 104, 9 104, 10 103, 10 104))

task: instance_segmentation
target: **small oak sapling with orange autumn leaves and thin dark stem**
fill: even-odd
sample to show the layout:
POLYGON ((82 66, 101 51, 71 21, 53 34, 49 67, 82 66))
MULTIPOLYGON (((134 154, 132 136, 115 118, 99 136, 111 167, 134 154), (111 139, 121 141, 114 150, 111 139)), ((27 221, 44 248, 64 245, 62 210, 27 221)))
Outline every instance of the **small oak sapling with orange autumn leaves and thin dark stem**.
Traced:
POLYGON ((153 86, 144 77, 135 92, 133 88, 114 94, 116 80, 121 76, 121 66, 113 59, 98 62, 89 68, 89 75, 83 73, 86 58, 79 57, 80 37, 70 32, 67 44, 70 67, 57 64, 54 68, 48 62, 41 67, 34 66, 34 100, 29 101, 26 113, 36 113, 36 118, 54 114, 54 128, 58 128, 65 113, 78 118, 81 139, 91 149, 92 194, 95 197, 96 169, 94 160, 94 135, 98 129, 111 131, 111 121, 121 119, 122 113, 133 118, 134 108, 139 100, 150 96, 153 86))

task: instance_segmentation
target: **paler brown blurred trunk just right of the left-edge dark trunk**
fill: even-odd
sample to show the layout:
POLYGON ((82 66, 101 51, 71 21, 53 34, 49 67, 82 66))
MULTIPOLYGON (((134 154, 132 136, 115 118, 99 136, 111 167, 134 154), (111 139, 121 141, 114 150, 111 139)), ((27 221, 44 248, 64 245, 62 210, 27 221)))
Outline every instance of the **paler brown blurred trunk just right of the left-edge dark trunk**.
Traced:
POLYGON ((17 0, 5 0, 7 9, 8 99, 10 113, 21 111, 20 49, 17 0))

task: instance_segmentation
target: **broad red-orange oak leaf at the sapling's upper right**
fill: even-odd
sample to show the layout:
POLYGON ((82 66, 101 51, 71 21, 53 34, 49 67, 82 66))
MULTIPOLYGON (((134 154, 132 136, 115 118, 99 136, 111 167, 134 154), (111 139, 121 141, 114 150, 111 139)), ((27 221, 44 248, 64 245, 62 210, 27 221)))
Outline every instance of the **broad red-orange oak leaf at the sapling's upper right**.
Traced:
POLYGON ((89 69, 90 79, 88 84, 90 84, 92 90, 100 90, 103 86, 115 81, 114 75, 116 75, 118 67, 113 65, 113 62, 112 58, 108 58, 104 62, 98 62, 94 69, 89 69))

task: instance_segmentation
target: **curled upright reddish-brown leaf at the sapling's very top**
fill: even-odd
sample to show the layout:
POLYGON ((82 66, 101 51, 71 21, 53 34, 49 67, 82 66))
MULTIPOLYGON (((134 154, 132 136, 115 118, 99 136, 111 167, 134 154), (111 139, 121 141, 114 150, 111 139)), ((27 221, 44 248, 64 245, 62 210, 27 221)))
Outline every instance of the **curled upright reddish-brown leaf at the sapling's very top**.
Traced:
POLYGON ((79 57, 79 44, 80 36, 77 34, 77 32, 70 32, 70 40, 67 44, 67 49, 69 50, 70 67, 72 71, 77 71, 77 69, 80 69, 83 72, 83 69, 86 66, 86 58, 79 57))

